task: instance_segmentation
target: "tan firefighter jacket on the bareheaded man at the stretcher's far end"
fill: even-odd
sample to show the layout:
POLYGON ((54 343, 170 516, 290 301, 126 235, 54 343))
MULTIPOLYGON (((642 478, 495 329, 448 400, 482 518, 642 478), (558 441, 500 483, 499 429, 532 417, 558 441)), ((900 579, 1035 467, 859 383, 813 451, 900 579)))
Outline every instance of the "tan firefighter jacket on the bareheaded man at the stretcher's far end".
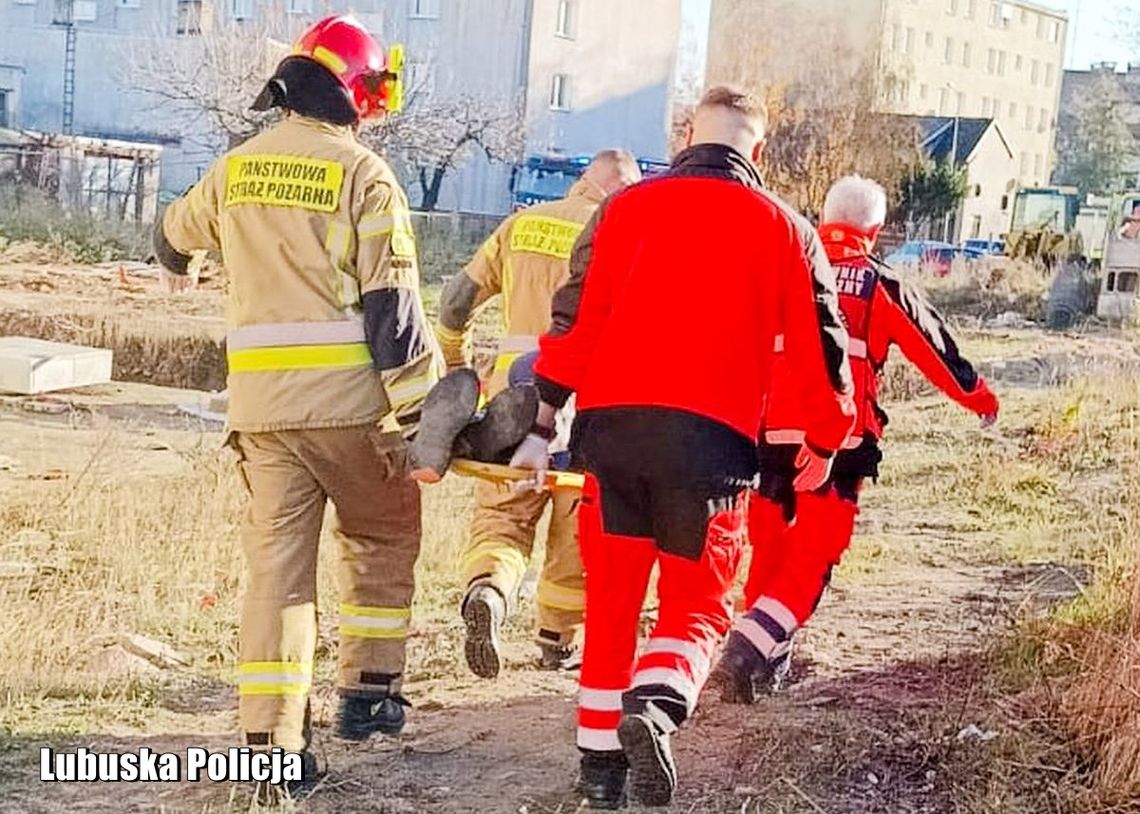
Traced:
POLYGON ((569 276, 570 251, 604 197, 583 179, 561 201, 515 212, 498 226, 440 300, 435 335, 448 367, 470 363, 472 317, 502 294, 503 336, 490 393, 505 385, 511 363, 537 350, 549 328, 551 300, 569 276))

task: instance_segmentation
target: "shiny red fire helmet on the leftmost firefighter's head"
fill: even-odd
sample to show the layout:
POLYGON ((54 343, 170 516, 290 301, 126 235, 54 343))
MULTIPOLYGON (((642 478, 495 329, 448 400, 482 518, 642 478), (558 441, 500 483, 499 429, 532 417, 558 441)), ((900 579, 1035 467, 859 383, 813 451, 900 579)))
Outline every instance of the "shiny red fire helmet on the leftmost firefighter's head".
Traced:
POLYGON ((392 46, 385 54, 351 15, 314 23, 293 44, 293 56, 312 59, 336 76, 361 119, 393 113, 402 106, 404 47, 392 46))

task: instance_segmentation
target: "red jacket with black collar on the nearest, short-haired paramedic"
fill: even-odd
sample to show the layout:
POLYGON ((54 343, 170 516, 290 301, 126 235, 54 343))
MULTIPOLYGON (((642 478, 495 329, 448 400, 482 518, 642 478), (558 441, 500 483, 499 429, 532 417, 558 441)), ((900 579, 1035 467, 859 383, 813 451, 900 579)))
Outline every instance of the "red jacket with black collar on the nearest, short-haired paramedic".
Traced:
POLYGON ((579 413, 667 408, 758 440, 775 337, 798 426, 838 449, 855 417, 834 276, 811 225, 731 147, 699 145, 609 198, 579 237, 535 366, 579 413))

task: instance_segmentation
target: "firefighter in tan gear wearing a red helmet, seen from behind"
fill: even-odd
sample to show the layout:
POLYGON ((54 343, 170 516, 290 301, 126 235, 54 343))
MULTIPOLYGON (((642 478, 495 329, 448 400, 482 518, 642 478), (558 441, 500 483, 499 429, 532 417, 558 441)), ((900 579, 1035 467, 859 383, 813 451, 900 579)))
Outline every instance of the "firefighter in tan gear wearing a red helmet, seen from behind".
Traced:
POLYGON ((342 600, 337 732, 363 740, 404 725, 421 531, 405 438, 438 377, 438 349, 407 200, 356 137, 360 119, 398 105, 401 59, 352 17, 314 25, 254 103, 284 108, 284 120, 222 156, 156 230, 170 271, 211 250, 230 275, 229 443, 250 496, 237 684, 253 747, 309 743, 328 500, 342 600))

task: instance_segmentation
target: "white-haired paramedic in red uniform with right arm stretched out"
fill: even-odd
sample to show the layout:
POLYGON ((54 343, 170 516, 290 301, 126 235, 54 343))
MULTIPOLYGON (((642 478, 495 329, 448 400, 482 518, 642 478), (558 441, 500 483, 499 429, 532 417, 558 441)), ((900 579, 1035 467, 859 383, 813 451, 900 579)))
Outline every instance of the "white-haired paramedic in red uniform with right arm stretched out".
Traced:
POLYGON ((751 500, 748 531, 752 563, 744 602, 715 683, 726 700, 749 703, 779 686, 792 634, 807 621, 831 569, 850 543, 863 480, 878 475, 879 439, 887 415, 878 404, 879 375, 891 345, 946 396, 982 416, 997 417, 997 398, 963 359, 942 317, 911 283, 873 257, 887 215, 887 196, 874 181, 849 176, 823 205, 820 236, 836 269, 839 304, 850 335, 849 355, 858 415, 836 456, 826 485, 796 494, 793 458, 803 442, 798 404, 801 364, 788 350, 774 367, 773 400, 760 445, 760 497, 751 500), (795 522, 790 522, 795 518, 795 522))

